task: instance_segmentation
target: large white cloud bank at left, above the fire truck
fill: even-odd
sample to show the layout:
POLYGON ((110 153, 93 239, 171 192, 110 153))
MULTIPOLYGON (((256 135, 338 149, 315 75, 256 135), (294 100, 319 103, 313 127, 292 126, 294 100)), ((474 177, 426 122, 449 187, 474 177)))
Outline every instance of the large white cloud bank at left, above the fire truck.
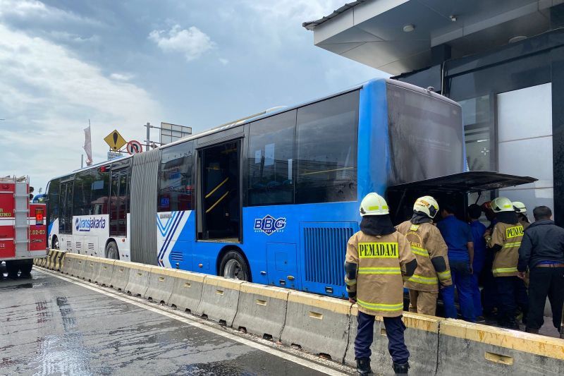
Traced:
POLYGON ((1 24, 0 66, 0 175, 29 174, 36 188, 80 167, 88 119, 94 162, 101 162, 108 150, 102 139, 114 128, 126 140, 142 139, 142 124, 163 117, 142 88, 1 24))

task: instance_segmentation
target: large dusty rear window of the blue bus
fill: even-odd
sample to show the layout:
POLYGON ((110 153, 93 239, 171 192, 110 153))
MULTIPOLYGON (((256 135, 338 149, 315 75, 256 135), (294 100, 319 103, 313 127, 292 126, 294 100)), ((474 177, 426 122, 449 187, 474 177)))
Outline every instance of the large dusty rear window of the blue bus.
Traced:
POLYGON ((387 85, 390 184, 464 171, 460 107, 396 85, 387 85))

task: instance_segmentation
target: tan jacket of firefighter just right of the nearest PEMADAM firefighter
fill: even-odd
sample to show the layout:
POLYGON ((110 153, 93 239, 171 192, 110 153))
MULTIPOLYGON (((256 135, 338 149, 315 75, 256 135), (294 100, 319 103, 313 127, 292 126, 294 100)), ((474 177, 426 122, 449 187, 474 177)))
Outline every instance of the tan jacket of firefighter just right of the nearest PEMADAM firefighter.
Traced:
POLYGON ((404 234, 410 242, 411 251, 417 259, 415 273, 405 281, 407 289, 417 291, 439 291, 439 282, 442 286, 453 284, 448 266, 448 247, 441 235, 441 231, 431 223, 412 224, 405 221, 398 224, 396 229, 404 234), (431 259, 442 257, 446 269, 437 272, 431 259))

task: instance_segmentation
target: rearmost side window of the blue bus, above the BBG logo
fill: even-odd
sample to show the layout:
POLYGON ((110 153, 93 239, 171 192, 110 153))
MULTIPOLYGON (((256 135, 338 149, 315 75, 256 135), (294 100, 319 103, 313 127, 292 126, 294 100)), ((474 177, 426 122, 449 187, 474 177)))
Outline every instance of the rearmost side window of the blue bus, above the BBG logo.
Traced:
POLYGON ((298 109, 295 202, 357 199, 359 92, 298 109))

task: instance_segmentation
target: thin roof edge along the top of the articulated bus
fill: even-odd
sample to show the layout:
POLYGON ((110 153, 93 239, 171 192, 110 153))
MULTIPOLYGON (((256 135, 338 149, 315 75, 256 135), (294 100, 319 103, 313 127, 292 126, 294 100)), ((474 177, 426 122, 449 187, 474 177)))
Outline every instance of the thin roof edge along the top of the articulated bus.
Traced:
MULTIPOLYGON (((292 111, 293 109, 299 109, 300 107, 305 107, 305 106, 307 106, 308 104, 313 104, 313 103, 315 103, 315 102, 321 102, 322 100, 324 100, 324 99, 329 99, 329 98, 331 98, 331 97, 337 97, 338 95, 345 94, 346 92, 352 92, 353 90, 360 89, 361 87, 364 87, 364 86, 368 85, 369 83, 376 83, 376 82, 384 82, 384 83, 388 83, 388 84, 391 84, 391 85, 396 85, 396 86, 404 87, 404 88, 406 88, 406 89, 413 90, 413 91, 415 91, 415 92, 420 92, 420 93, 422 93, 422 94, 431 95, 432 97, 434 97, 434 98, 436 98, 436 99, 441 99, 441 100, 443 100, 444 102, 448 102, 448 103, 450 103, 450 104, 454 104, 454 105, 460 107, 460 104, 458 104, 457 102, 453 101, 452 99, 448 99, 447 97, 443 97, 442 95, 439 95, 439 94, 437 94, 436 92, 433 92, 433 91, 431 91, 431 90, 426 90, 426 89, 423 89, 422 87, 415 86, 415 85, 411 85, 411 84, 409 84, 409 83, 404 83, 404 82, 398 81, 398 80, 392 80, 392 79, 390 79, 390 78, 373 78, 372 80, 367 80, 367 81, 365 81, 364 83, 360 83, 360 84, 354 85, 354 86, 352 86, 352 87, 348 87, 347 89, 341 90, 340 92, 334 92, 334 93, 331 94, 331 95, 326 95, 326 96, 324 96, 324 97, 319 97, 319 98, 317 98, 317 99, 312 99, 312 100, 309 100, 309 101, 307 101, 307 102, 302 102, 302 103, 296 104, 296 105, 294 105, 294 106, 292 106, 292 107, 274 107, 274 108, 275 108, 274 111, 268 111, 268 110, 266 110, 266 111, 264 111, 264 113, 259 114, 259 115, 257 115, 257 116, 251 116, 251 117, 249 117, 249 118, 243 118, 242 120, 235 120, 235 121, 233 121, 233 122, 231 122, 231 123, 225 123, 225 124, 223 124, 222 126, 217 126, 217 127, 215 127, 215 128, 208 129, 207 131, 202 131, 202 132, 200 132, 200 133, 196 133, 195 135, 190 135, 190 136, 188 136, 188 137, 181 138, 180 140, 176 140, 176 141, 171 142, 171 143, 168 143, 168 144, 166 144, 166 145, 161 145, 161 146, 159 146, 159 147, 157 147, 157 148, 155 148, 155 149, 153 149, 153 150, 149 150, 149 152, 153 152, 153 151, 160 150, 160 149, 165 149, 166 147, 171 147, 171 146, 173 146, 173 145, 178 145, 178 144, 180 144, 180 143, 182 143, 182 142, 188 142, 188 141, 190 141, 190 140, 196 140, 197 138, 201 138, 201 137, 204 137, 204 136, 206 136, 206 135, 212 135, 212 134, 214 134, 214 133, 219 133, 219 132, 221 132, 221 131, 225 131, 226 129, 233 128, 233 127, 235 127, 235 126, 243 126, 243 125, 246 124, 246 123, 252 123, 253 121, 257 121, 257 120, 260 120, 260 119, 265 119, 265 118, 268 118, 268 117, 270 117, 270 116, 274 116, 274 115, 276 115, 276 114, 281 114, 281 113, 286 112, 286 111, 292 111)), ((76 173, 78 173, 78 172, 80 172, 80 171, 85 171, 85 170, 88 170, 88 169, 93 169, 93 168, 98 167, 98 166, 104 166, 104 165, 106 165, 106 164, 114 163, 114 162, 121 161, 121 160, 123 160, 123 159, 131 158, 131 157, 133 157, 133 155, 125 155, 125 156, 123 156, 123 157, 119 157, 119 158, 115 158, 115 159, 110 159, 110 160, 107 160, 107 161, 104 161, 104 162, 99 162, 99 163, 97 163, 97 164, 92 164, 92 166, 87 166, 87 167, 84 167, 84 168, 82 168, 82 169, 76 169, 76 170, 74 170, 74 171, 72 171, 72 172, 70 172, 70 173, 68 173, 68 174, 64 174, 64 175, 61 175, 61 176, 56 176, 56 177, 52 178, 51 180, 54 180, 54 179, 56 179, 56 178, 63 178, 63 177, 65 177, 65 176, 69 176, 69 175, 72 175, 72 174, 76 174, 76 173)))

